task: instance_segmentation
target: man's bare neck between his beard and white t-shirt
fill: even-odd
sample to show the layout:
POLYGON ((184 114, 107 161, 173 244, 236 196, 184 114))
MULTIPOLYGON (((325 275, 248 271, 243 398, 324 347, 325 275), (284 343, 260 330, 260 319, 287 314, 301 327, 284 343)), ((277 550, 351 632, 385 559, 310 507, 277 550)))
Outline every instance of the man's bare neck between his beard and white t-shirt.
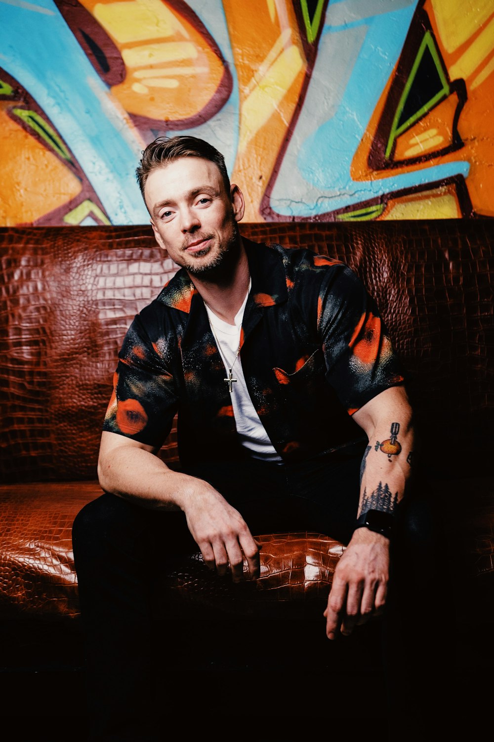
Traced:
POLYGON ((243 244, 238 252, 238 260, 228 276, 218 276, 215 280, 191 277, 194 286, 204 303, 224 322, 235 324, 235 315, 244 302, 249 288, 249 263, 243 244))

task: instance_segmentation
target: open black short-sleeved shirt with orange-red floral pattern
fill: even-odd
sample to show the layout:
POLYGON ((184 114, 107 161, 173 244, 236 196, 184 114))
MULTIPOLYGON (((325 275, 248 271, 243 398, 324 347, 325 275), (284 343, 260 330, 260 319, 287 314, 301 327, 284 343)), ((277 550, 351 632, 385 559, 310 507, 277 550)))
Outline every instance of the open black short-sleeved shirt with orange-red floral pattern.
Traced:
MULTIPOLYGON (((375 302, 344 263, 244 238, 241 364, 284 461, 362 439, 352 415, 404 381, 375 302)), ((181 464, 245 456, 204 302, 179 270, 127 331, 104 430, 157 449, 178 413, 181 464)))

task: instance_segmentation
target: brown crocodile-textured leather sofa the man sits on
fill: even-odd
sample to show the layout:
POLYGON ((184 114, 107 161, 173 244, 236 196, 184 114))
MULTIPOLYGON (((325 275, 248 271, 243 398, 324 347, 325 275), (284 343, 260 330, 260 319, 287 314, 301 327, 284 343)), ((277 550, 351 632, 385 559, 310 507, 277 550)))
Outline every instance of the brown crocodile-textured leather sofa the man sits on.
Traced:
MULTIPOLYGON (((373 293, 412 374, 421 486, 441 505, 459 631, 493 594, 493 220, 243 224, 251 239, 338 257, 373 293)), ((147 226, 0 229, 0 619, 77 626, 70 528, 101 489, 101 421, 121 339, 176 270, 147 226)), ((176 434, 161 456, 177 466, 176 434)), ((167 565, 157 615, 321 620, 342 546, 256 534, 261 580, 233 585, 199 554, 167 565)), ((448 606, 448 611, 451 606, 448 606)), ((12 648, 11 648, 11 654, 12 648)), ((15 653, 14 653, 15 654, 15 653)))

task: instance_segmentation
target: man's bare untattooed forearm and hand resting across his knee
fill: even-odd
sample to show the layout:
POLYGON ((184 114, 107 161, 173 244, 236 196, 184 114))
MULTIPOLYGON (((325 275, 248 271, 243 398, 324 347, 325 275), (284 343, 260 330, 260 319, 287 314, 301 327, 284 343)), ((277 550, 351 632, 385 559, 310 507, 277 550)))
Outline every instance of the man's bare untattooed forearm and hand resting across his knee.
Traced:
POLYGON ((171 470, 156 453, 151 446, 104 431, 98 461, 101 487, 144 508, 183 510, 208 567, 223 575, 230 562, 233 582, 238 582, 243 551, 257 579, 258 545, 238 510, 204 480, 171 470))

